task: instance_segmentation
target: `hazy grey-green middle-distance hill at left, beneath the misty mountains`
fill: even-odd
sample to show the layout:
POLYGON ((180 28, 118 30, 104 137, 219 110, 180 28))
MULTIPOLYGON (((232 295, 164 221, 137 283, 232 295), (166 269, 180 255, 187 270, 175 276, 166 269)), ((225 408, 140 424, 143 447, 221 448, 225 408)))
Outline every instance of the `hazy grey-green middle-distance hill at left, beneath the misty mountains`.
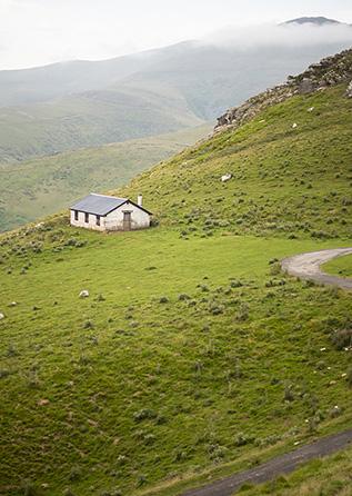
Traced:
POLYGON ((203 123, 182 96, 104 90, 0 109, 0 160, 172 132, 203 123))

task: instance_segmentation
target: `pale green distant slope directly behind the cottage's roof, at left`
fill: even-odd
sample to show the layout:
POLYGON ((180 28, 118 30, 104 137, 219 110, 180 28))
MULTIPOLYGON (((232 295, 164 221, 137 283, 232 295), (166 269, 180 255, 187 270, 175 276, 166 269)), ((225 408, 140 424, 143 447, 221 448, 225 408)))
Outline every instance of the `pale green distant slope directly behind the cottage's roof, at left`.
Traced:
POLYGON ((0 231, 67 208, 88 191, 124 185, 141 170, 205 137, 205 125, 170 135, 0 165, 0 231))

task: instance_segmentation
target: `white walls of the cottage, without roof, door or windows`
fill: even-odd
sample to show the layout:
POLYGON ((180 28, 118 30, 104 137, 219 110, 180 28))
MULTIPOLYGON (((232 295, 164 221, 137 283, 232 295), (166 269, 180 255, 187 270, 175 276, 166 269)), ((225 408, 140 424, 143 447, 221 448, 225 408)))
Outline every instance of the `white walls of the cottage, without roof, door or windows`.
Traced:
POLYGON ((71 210, 71 226, 84 227, 86 229, 104 230, 123 230, 123 211, 131 212, 131 229, 145 229, 150 227, 150 215, 144 210, 135 207, 129 201, 117 208, 105 217, 100 217, 100 226, 97 226, 97 216, 89 214, 89 222, 84 221, 84 212, 78 212, 78 220, 74 220, 74 211, 71 210))

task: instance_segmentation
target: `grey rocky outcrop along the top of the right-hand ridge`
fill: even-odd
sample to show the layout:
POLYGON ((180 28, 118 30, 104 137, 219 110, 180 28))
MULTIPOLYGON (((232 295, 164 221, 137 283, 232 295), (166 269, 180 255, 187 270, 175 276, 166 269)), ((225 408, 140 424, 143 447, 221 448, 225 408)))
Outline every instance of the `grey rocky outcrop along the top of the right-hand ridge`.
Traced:
POLYGON ((228 110, 218 119, 215 131, 238 128, 253 119, 266 107, 281 103, 294 95, 312 93, 324 88, 351 81, 346 96, 352 98, 352 49, 313 63, 299 76, 289 76, 284 85, 269 89, 228 110))

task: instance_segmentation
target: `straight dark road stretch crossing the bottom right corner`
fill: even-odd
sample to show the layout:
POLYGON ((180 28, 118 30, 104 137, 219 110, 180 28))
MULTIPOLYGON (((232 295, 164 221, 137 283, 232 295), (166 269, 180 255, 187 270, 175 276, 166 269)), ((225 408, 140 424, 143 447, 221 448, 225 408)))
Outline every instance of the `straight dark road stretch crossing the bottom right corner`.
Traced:
POLYGON ((332 455, 352 445, 352 429, 302 446, 294 452, 278 456, 255 468, 240 472, 199 489, 191 489, 182 496, 231 496, 244 483, 261 484, 295 470, 300 465, 315 458, 332 455))

